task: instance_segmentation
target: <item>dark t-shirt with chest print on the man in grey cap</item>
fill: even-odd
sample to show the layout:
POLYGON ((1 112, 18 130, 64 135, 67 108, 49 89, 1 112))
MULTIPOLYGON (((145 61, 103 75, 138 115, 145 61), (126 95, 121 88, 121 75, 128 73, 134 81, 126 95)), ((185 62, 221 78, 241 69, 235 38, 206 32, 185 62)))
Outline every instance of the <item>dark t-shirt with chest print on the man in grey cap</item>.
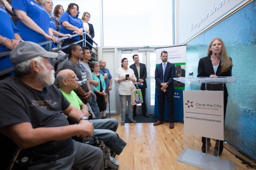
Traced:
MULTIPOLYGON (((62 111, 68 108, 70 103, 53 85, 38 91, 12 75, 0 81, 0 94, 0 128, 22 122, 30 122, 34 129, 69 125, 62 111)), ((1 134, 0 138, 7 137, 1 134)), ((10 146, 7 141, 1 140, 1 150, 2 147, 10 146)), ((40 154, 58 154, 61 157, 69 155, 73 150, 71 138, 53 143, 54 145, 51 146, 34 147, 33 150, 40 154)), ((7 151, 6 148, 5 150, 7 151)), ((2 151, 0 153, 1 158, 4 158, 5 153, 2 151)))

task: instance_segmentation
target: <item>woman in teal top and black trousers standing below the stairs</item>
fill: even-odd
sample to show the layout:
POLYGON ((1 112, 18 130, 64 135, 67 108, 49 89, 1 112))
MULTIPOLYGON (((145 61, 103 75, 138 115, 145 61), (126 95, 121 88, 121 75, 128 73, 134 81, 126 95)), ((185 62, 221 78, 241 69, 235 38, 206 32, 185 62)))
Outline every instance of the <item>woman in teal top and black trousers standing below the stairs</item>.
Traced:
MULTIPOLYGON (((96 80, 98 82, 98 85, 94 87, 93 91, 96 95, 96 101, 98 104, 98 107, 100 109, 100 116, 102 117, 102 112, 106 111, 106 104, 105 104, 105 96, 106 96, 106 84, 105 79, 102 74, 99 73, 100 71, 100 64, 98 62, 91 62, 90 63, 90 69, 92 70, 92 78, 93 80, 96 80)), ((92 90, 92 89, 91 89, 92 90)))

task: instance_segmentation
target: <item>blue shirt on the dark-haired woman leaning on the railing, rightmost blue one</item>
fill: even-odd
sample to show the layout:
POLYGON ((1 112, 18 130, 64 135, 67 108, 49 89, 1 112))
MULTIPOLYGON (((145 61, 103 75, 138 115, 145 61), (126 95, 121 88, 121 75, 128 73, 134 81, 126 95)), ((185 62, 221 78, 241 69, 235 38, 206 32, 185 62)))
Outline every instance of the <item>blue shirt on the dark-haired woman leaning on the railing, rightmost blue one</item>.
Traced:
MULTIPOLYGON (((63 27, 62 22, 64 22, 64 21, 67 21, 68 23, 70 23, 74 27, 84 29, 84 24, 83 24, 83 21, 81 19, 79 19, 75 16, 69 15, 68 12, 64 12, 60 16, 60 23, 61 23, 60 33, 63 33, 63 34, 69 33, 70 35, 73 35, 74 30, 68 30, 65 27, 63 27)), ((73 37, 72 39, 80 40, 80 36, 73 37)))

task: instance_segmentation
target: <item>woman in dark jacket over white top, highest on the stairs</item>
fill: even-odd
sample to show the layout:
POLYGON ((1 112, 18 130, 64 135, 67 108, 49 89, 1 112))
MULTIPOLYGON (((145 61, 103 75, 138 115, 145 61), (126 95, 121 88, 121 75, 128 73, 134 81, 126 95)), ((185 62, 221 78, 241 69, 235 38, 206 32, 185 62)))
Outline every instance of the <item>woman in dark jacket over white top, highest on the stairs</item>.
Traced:
POLYGON ((94 37, 94 29, 91 23, 88 23, 91 18, 91 14, 89 12, 84 12, 82 15, 82 20, 84 24, 84 31, 86 32, 86 46, 92 50, 93 37, 94 37))

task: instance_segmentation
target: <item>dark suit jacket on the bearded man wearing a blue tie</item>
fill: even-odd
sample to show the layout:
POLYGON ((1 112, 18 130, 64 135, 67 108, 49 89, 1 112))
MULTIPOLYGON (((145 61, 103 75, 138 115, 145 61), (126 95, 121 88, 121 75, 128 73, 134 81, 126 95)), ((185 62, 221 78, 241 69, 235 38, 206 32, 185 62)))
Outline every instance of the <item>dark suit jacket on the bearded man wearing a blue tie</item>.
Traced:
POLYGON ((162 92, 161 90, 161 83, 166 83, 168 82, 168 87, 166 88, 166 91, 174 91, 173 87, 173 78, 176 76, 176 70, 174 64, 167 62, 166 67, 165 67, 165 72, 164 72, 164 77, 163 77, 163 63, 159 64, 156 66, 155 70, 155 79, 156 79, 156 91, 157 92, 162 92), (163 82, 164 79, 164 82, 163 82))

